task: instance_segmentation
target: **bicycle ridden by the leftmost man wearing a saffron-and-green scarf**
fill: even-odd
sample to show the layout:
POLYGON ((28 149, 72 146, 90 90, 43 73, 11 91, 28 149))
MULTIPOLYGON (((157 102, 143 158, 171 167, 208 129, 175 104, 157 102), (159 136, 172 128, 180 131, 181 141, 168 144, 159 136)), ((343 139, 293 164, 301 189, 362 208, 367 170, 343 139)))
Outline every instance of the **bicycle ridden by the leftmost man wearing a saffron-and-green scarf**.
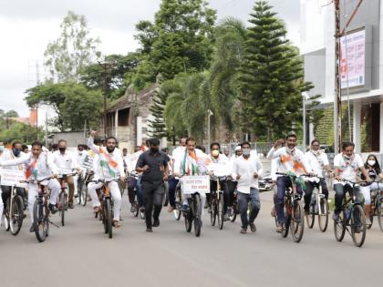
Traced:
MULTIPOLYGON (((38 194, 36 201, 33 205, 33 229, 36 234, 36 239, 39 242, 46 241, 49 236, 49 223, 58 226, 49 220, 50 210, 48 208, 49 191, 46 185, 42 185, 41 182, 52 179, 41 179, 37 181, 38 194)), ((26 181, 28 182, 28 181, 26 181)))

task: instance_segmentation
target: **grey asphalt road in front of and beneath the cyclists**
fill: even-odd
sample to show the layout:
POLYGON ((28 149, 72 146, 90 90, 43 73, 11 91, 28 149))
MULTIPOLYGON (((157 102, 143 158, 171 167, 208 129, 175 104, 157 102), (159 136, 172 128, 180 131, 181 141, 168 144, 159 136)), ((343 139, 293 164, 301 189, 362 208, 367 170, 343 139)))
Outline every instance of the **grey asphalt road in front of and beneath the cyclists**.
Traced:
MULTIPOLYGON (((272 192, 261 194, 255 233, 240 234, 240 220, 223 231, 204 216, 202 236, 187 233, 166 210, 160 227, 145 232, 124 195, 122 226, 103 233, 90 206, 67 213, 65 227, 51 226, 38 243, 26 220, 14 237, 0 231, 0 286, 382 286, 383 233, 375 222, 362 248, 351 237, 337 242, 332 221, 326 233, 305 228, 303 241, 274 231, 272 192)), ((53 220, 58 223, 58 216, 53 220)))

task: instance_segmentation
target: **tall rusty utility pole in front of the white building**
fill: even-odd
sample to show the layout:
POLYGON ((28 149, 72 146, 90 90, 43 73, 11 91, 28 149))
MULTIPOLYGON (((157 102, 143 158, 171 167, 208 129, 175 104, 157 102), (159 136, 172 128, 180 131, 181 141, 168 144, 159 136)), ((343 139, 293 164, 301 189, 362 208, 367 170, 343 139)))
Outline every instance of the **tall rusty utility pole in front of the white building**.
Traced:
MULTIPOLYGON (((350 15, 342 31, 340 29, 340 0, 334 0, 333 2, 335 5, 335 49, 336 49, 336 67, 335 67, 336 83, 335 83, 335 97, 334 97, 334 131, 335 131, 334 148, 335 148, 335 152, 339 153, 342 150, 342 87, 341 87, 341 80, 340 80, 340 68, 341 68, 340 67, 341 66, 340 38, 342 36, 347 36, 347 28, 350 25, 354 16, 357 15, 357 9, 362 4, 363 0, 358 1, 357 6, 355 7, 353 13, 350 15)), ((344 5, 344 10, 346 10, 346 4, 344 5)), ((346 42, 347 42, 347 39, 346 39, 346 42)), ((346 49, 347 49, 347 43, 346 43, 346 49)), ((346 68, 348 70, 348 67, 346 68)), ((347 86, 348 86, 348 75, 347 75, 347 86)), ((349 106, 348 106, 348 121, 350 118, 349 113, 350 112, 349 112, 349 106)), ((349 126, 351 126, 350 123, 349 123, 349 126)), ((352 138, 351 132, 350 132, 350 138, 352 138)))

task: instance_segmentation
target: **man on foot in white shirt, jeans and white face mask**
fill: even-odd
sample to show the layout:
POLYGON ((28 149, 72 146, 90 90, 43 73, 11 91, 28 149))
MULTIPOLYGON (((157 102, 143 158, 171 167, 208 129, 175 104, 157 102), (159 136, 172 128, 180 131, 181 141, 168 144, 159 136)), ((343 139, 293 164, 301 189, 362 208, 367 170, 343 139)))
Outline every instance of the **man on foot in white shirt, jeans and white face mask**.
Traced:
POLYGON ((251 144, 243 142, 242 156, 234 160, 233 178, 237 179, 238 203, 241 214, 242 229, 241 233, 247 232, 250 225, 252 232, 256 231, 254 220, 261 209, 261 200, 259 198, 258 177, 263 173, 263 167, 258 157, 251 153, 251 144), (247 218, 248 202, 252 204, 252 210, 247 218))

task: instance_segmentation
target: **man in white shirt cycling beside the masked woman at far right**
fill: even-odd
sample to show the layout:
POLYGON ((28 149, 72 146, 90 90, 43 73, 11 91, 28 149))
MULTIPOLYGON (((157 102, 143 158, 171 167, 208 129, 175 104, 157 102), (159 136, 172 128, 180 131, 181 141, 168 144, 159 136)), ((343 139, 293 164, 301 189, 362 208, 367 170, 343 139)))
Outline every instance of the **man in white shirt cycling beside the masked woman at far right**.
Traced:
MULTIPOLYGON (((349 185, 347 181, 357 182, 357 172, 360 170, 365 176, 367 181, 370 181, 368 172, 365 169, 363 159, 354 153, 355 144, 352 142, 344 142, 342 145, 342 152, 337 154, 334 158, 335 167, 335 180, 334 191, 336 192, 335 203, 336 209, 334 210, 333 220, 338 220, 339 213, 342 211, 342 201, 345 197, 345 186, 349 185)), ((359 186, 354 187, 357 201, 361 201, 361 193, 359 186)))

